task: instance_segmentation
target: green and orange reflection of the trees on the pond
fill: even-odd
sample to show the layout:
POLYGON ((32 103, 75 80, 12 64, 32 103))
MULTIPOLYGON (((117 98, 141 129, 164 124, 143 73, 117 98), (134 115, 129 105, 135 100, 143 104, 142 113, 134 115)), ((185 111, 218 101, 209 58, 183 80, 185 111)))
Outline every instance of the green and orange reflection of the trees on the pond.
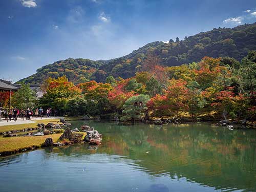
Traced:
MULTIPOLYGON (((205 124, 188 126, 117 125, 91 123, 102 133, 95 152, 73 145, 58 153, 76 156, 92 153, 125 155, 152 176, 168 174, 216 189, 256 190, 256 132, 229 131, 205 124), (148 152, 148 153, 146 153, 148 152)), ((54 150, 55 152, 55 150, 54 150)))

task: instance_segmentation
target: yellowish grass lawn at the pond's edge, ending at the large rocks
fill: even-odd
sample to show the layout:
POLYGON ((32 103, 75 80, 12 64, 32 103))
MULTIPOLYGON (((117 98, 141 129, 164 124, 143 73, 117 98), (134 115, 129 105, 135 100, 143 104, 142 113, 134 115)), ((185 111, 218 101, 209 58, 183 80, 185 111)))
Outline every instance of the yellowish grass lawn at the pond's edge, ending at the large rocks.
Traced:
POLYGON ((30 146, 38 146, 40 147, 42 143, 45 142, 46 138, 51 137, 54 142, 58 140, 58 138, 62 134, 53 134, 53 135, 44 135, 37 137, 8 137, 8 138, 0 138, 0 153, 8 152, 8 151, 18 151, 19 149, 30 147, 30 146))

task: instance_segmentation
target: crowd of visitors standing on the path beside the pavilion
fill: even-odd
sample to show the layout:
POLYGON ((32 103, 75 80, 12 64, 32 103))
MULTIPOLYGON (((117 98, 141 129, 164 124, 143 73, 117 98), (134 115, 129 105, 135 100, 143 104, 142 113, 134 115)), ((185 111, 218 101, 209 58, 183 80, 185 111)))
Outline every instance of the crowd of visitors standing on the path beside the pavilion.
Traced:
MULTIPOLYGON (((50 117, 51 116, 51 108, 47 109, 46 111, 46 117, 50 117)), ((35 117, 35 119, 37 119, 37 117, 42 118, 42 116, 44 115, 44 110, 42 108, 36 108, 34 110, 34 112, 31 109, 26 109, 26 110, 19 110, 17 108, 12 108, 11 110, 8 109, 1 109, 0 108, 0 121, 2 121, 2 119, 4 120, 14 120, 16 121, 17 118, 22 118, 22 120, 24 120, 24 118, 26 118, 26 120, 30 120, 32 116, 35 117)), ((55 114, 54 114, 55 115, 55 114)))

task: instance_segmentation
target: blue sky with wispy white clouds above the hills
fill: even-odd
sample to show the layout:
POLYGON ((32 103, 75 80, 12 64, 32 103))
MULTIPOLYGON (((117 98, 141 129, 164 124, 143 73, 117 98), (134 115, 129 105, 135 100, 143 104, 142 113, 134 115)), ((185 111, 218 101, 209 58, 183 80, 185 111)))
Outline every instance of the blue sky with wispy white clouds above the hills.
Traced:
POLYGON ((57 60, 110 59, 152 41, 256 22, 246 0, 0 0, 0 78, 57 60))

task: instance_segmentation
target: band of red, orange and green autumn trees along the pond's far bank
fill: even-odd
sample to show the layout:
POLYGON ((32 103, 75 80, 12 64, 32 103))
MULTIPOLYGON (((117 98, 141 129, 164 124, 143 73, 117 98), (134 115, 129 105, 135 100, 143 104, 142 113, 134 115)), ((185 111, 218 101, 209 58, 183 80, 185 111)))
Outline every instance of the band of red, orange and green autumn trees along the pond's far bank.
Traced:
MULTIPOLYGON (((160 60, 147 54, 135 76, 115 79, 110 75, 104 83, 74 84, 66 76, 49 77, 42 81, 44 95, 39 99, 29 84, 23 83, 13 94, 12 105, 123 121, 151 117, 256 119, 256 51, 250 51, 241 62, 230 57, 203 57, 199 62, 164 67, 160 60)), ((3 103, 8 105, 8 97, 3 103)))

